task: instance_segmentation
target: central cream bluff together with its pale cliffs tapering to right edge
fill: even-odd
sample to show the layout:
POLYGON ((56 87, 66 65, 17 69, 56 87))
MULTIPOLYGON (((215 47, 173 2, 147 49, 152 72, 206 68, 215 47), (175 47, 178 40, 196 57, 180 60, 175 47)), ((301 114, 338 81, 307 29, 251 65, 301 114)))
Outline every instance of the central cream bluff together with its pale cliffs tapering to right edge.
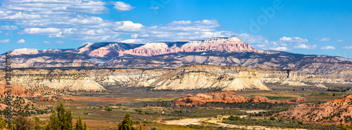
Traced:
POLYGON ((169 71, 153 82, 154 89, 200 89, 216 88, 222 90, 263 89, 265 83, 278 83, 290 86, 314 86, 324 84, 348 84, 352 82, 341 78, 306 75, 291 69, 249 68, 245 66, 189 65, 169 71))

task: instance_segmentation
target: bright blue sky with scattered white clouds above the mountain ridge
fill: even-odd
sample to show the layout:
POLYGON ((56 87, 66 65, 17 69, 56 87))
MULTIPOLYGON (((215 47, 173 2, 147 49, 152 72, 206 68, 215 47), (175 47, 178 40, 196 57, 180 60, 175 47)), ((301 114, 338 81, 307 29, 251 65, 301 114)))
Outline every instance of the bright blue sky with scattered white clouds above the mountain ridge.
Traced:
POLYGON ((262 50, 352 58, 351 1, 1 1, 0 53, 237 36, 262 50))

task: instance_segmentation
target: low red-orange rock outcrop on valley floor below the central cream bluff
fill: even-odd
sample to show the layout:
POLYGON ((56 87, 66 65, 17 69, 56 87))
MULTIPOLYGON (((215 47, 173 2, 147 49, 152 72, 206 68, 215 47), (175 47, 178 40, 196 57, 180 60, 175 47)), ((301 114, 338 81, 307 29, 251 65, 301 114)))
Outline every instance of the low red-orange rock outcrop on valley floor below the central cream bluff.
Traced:
POLYGON ((192 96, 191 94, 187 94, 183 99, 177 99, 175 101, 175 105, 198 105, 207 102, 223 102, 223 103, 240 103, 240 102, 253 102, 253 103, 299 103, 306 102, 306 98, 298 97, 296 99, 291 99, 287 101, 278 101, 278 100, 270 100, 267 97, 263 96, 253 96, 253 97, 244 97, 236 94, 234 92, 209 92, 206 94, 196 94, 196 96, 192 96))

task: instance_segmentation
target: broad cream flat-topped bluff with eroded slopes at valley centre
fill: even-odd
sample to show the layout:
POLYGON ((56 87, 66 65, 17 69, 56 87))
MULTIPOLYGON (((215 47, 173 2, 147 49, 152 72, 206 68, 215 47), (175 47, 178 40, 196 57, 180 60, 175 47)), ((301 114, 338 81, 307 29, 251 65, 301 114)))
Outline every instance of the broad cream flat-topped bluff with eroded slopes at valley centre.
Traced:
POLYGON ((246 69, 248 68, 183 66, 161 75, 160 80, 153 82, 153 87, 154 89, 268 90, 256 71, 246 69))

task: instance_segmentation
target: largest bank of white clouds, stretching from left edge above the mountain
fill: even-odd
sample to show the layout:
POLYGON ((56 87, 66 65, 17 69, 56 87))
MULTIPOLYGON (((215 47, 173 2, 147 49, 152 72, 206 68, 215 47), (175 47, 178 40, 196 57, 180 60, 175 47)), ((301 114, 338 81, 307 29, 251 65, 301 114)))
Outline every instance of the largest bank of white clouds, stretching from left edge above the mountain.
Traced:
MULTIPOLYGON (((110 3, 110 2, 106 2, 110 3)), ((218 31, 217 20, 174 21, 145 26, 132 21, 104 20, 85 15, 107 12, 105 2, 94 0, 5 0, 0 6, 0 21, 20 28, 18 34, 65 38, 82 43, 124 41, 119 36, 130 35, 134 43, 150 41, 189 41, 209 37, 235 36, 232 31, 218 31), (34 1, 34 2, 33 2, 34 1)), ((113 2, 115 9, 131 10, 128 3, 113 2)), ((154 7, 156 9, 156 7, 154 7)), ((11 27, 11 26, 9 26, 11 27)), ((270 43, 263 36, 239 34, 246 43, 270 43)), ((129 40, 129 39, 127 39, 129 40)), ((132 40, 129 40, 132 41, 132 40)))

